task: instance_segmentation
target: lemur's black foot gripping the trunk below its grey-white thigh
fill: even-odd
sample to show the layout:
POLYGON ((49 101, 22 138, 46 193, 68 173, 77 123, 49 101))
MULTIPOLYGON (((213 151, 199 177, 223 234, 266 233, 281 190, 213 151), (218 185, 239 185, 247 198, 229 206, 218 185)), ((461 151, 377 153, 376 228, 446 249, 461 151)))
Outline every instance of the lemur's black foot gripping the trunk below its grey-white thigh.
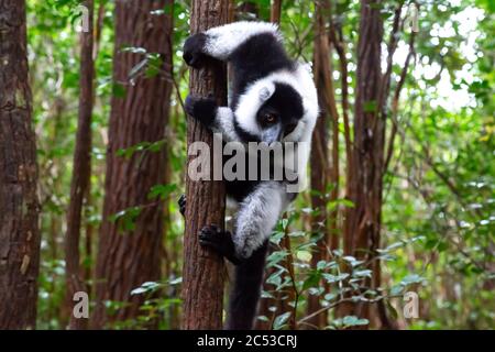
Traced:
POLYGON ((208 246, 227 257, 232 264, 240 264, 235 246, 229 231, 223 231, 215 224, 206 226, 199 231, 199 244, 208 246))

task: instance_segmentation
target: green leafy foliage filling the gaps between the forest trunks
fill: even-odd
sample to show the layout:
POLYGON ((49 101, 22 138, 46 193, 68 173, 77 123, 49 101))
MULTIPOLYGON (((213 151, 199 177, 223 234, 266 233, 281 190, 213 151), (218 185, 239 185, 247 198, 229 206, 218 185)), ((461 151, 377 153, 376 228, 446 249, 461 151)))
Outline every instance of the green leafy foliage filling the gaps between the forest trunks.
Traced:
MULTIPOLYGON (((255 2, 260 10, 257 16, 267 20, 270 1, 255 2)), ((391 32, 394 7, 400 2, 404 1, 384 1, 381 9, 386 37, 391 32)), ((356 316, 338 316, 337 307, 348 301, 383 302, 387 314, 405 329, 495 328, 494 2, 421 0, 418 3, 420 31, 415 43, 416 57, 403 89, 396 117, 399 128, 383 187, 383 235, 381 249, 376 251, 376 258, 382 262, 382 285, 366 287, 366 279, 374 275, 370 263, 340 250, 328 250, 328 257, 311 267, 316 242, 322 234, 309 230, 310 217, 317 210, 310 208, 310 191, 306 191, 299 195, 271 238, 273 251, 267 258, 270 274, 265 279, 268 289, 263 292, 263 299, 278 301, 268 307, 270 315, 262 315, 258 320, 270 322, 273 329, 287 329, 294 324, 302 328, 308 321, 309 296, 318 297, 321 307, 330 312, 326 329, 370 323, 356 316), (286 238, 289 238, 290 249, 285 245, 286 238), (408 290, 420 297, 417 319, 406 319, 402 312, 405 305, 402 297, 408 290)), ((79 42, 74 30, 74 9, 78 4, 79 1, 73 0, 28 1, 33 116, 43 207, 37 319, 38 328, 46 329, 65 328, 67 323, 67 316, 61 308, 65 300, 63 241, 77 128, 79 42)), ((96 62, 91 194, 85 205, 81 241, 81 262, 89 273, 95 267, 102 212, 110 99, 112 95, 124 95, 121 85, 112 80, 113 4, 96 1, 96 9, 100 6, 105 6, 105 15, 96 62)), ((352 106, 360 3, 355 0, 332 1, 331 10, 332 21, 342 30, 345 43, 352 106)), ((180 47, 188 35, 190 11, 186 1, 175 1, 173 11, 175 89, 167 135, 158 143, 142 142, 119 151, 121 157, 163 148, 167 152, 167 180, 150 189, 147 197, 150 202, 166 205, 163 274, 160 282, 144 283, 131 293, 145 297, 142 315, 136 321, 111 327, 116 329, 144 329, 154 322, 161 329, 179 327, 184 223, 175 199, 184 189, 187 157, 182 101, 187 94, 188 75, 180 47)), ((254 16, 250 13, 240 15, 254 16)), ((283 1, 280 29, 290 55, 298 59, 312 61, 314 22, 314 1, 283 1)), ((392 89, 395 89, 404 66, 410 33, 404 30, 398 36, 392 89)), ((132 46, 123 50, 142 55, 132 46)), ((329 59, 340 102, 339 58, 334 54, 329 59)), ((145 53, 129 77, 157 75, 161 63, 155 53, 145 53)), ((367 107, 375 108, 376 102, 367 107)), ((340 105, 339 112, 342 112, 340 105)), ((388 132, 394 121, 389 119, 387 123, 388 132)), ((339 127, 344 131, 342 121, 339 127)), ((343 151, 343 138, 340 143, 343 151)), ((340 157, 344 165, 344 153, 340 157)), ((118 221, 123 231, 132 232, 133 219, 148 204, 121 209, 112 221, 118 221)), ((345 207, 352 206, 341 191, 339 200, 329 202, 328 209, 342 213, 345 207)), ((87 284, 94 286, 95 283, 88 279, 87 284)), ((107 302, 109 309, 119 309, 124 304, 107 302)))

